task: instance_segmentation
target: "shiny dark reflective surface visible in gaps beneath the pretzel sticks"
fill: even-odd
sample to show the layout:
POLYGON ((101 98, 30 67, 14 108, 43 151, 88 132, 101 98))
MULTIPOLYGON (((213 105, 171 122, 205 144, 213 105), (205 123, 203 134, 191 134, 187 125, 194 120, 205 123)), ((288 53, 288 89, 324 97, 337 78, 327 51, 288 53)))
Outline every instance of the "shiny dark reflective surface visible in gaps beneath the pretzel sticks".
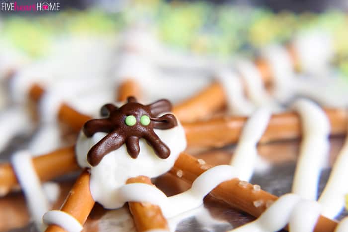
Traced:
MULTIPOLYGON (((8 159, 9 155, 18 148, 24 148, 28 138, 16 138, 6 151, 0 154, 1 161, 8 159)), ((330 166, 332 165, 336 155, 342 147, 344 138, 331 139, 331 152, 328 159, 328 167, 323 170, 320 178, 320 192, 323 190, 325 183, 330 174, 330 166)), ((263 160, 266 163, 271 163, 271 166, 266 170, 257 171, 251 182, 259 184, 262 189, 281 196, 284 193, 290 192, 292 178, 295 170, 296 157, 298 155, 299 141, 277 142, 267 145, 259 145, 258 150, 263 160)), ((207 163, 226 164, 229 162, 233 154, 234 147, 224 149, 214 149, 209 151, 192 152, 197 157, 204 159, 207 163)), ((69 191, 70 186, 74 182, 74 176, 61 178, 57 180, 61 185, 61 199, 69 191)), ((173 195, 184 191, 189 186, 183 183, 170 174, 165 174, 154 180, 155 184, 161 188, 167 195, 173 195)), ((59 207, 60 202, 56 207, 59 207)), ((204 206, 189 212, 178 223, 176 231, 178 232, 225 232, 243 225, 246 222, 253 220, 253 217, 247 214, 238 212, 228 208, 222 202, 219 202, 212 197, 206 197, 204 206)), ((0 198, 0 222, 7 220, 9 215, 13 219, 11 223, 12 229, 1 227, 0 231, 12 232, 35 232, 35 227, 28 221, 28 213, 25 207, 23 195, 13 193, 4 198, 0 198), (16 219, 17 217, 17 219, 16 219), (17 220, 17 222, 16 222, 17 220), (16 227, 14 229, 13 227, 16 227)), ((343 212, 339 218, 346 215, 343 212)), ((134 231, 134 224, 129 215, 127 206, 113 211, 106 211, 100 205, 96 205, 92 214, 87 220, 84 231, 134 231), (102 226, 101 226, 102 225, 102 226)))

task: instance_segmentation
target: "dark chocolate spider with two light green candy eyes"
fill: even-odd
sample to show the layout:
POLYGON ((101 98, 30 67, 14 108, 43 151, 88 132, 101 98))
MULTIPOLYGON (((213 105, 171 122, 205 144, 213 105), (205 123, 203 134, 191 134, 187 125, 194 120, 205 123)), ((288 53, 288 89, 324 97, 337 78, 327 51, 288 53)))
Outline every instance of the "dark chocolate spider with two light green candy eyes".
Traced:
POLYGON ((172 105, 168 100, 158 100, 149 105, 142 105, 135 97, 128 97, 127 103, 118 108, 113 104, 106 104, 101 108, 102 119, 92 119, 83 126, 87 137, 96 132, 108 133, 88 152, 87 160, 92 166, 100 163, 109 152, 126 144, 128 154, 137 158, 140 152, 139 139, 144 138, 154 149, 156 155, 162 159, 168 158, 170 150, 154 132, 156 129, 170 129, 177 125, 173 114, 161 113, 171 111, 172 105))

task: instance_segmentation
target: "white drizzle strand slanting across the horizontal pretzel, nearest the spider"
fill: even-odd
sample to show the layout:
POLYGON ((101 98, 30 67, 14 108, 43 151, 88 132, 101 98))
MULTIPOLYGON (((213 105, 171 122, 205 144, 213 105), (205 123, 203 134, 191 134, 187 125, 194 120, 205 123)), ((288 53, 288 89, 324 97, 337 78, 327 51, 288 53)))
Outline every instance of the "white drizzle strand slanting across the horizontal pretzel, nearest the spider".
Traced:
POLYGON ((258 157, 256 145, 268 126, 271 112, 266 108, 255 111, 245 123, 230 165, 238 171, 238 178, 249 181, 258 157))

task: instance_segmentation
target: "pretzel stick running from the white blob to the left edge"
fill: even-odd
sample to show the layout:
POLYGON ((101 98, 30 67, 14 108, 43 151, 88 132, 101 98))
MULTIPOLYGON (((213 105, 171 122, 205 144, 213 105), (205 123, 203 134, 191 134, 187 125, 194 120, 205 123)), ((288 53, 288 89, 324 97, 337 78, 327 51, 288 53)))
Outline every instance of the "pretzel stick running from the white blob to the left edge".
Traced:
MULTIPOLYGON (((33 158, 33 165, 42 182, 80 169, 76 163, 74 147, 67 147, 33 158)), ((18 186, 18 180, 9 163, 0 164, 0 196, 18 186)))

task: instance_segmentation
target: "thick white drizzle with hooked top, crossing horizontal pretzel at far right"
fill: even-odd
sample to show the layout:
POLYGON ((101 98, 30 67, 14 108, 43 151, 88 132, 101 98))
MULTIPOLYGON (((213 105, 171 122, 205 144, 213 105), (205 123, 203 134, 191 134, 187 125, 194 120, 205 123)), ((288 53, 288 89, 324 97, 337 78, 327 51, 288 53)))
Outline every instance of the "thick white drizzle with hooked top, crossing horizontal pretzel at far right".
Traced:
POLYGON ((317 200, 318 179, 330 146, 330 123, 325 112, 312 101, 297 100, 292 108, 301 117, 303 134, 292 192, 317 200))

